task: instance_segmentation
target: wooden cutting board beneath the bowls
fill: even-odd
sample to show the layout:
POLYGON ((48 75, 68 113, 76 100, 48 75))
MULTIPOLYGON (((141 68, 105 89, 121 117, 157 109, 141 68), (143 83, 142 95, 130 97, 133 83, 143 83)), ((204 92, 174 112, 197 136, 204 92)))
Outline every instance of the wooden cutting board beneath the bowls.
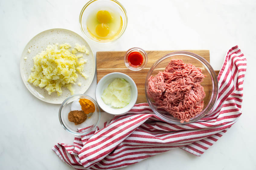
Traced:
MULTIPOLYGON (((198 54, 210 63, 209 50, 185 50, 198 54)), ((130 76, 138 88, 138 98, 136 103, 146 103, 145 80, 150 67, 161 57, 174 51, 146 51, 148 54, 148 63, 140 71, 131 71, 124 64, 124 55, 126 51, 98 51, 97 60, 97 83, 108 73, 120 72, 130 76)), ((219 71, 215 71, 216 75, 219 71)))

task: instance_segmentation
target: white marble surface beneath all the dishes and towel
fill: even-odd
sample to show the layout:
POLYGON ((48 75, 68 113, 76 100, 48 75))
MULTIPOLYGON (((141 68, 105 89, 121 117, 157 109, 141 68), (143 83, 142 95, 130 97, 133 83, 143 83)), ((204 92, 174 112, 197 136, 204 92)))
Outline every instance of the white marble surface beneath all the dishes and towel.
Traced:
MULTIPOLYGON (((256 169, 255 45, 256 2, 120 0, 128 13, 124 35, 96 51, 209 49, 211 65, 221 68, 226 51, 238 45, 248 60, 243 114, 201 157, 175 149, 153 156, 130 169, 256 169)), ((20 55, 37 33, 65 28, 82 35, 78 16, 86 0, 0 1, 0 169, 72 169, 51 150, 57 142, 72 144, 58 119, 59 105, 38 100, 25 88, 20 55)), ((94 97, 96 80, 86 94, 94 97)), ((104 119, 111 116, 104 114, 104 119)), ((104 120, 102 120, 103 122, 104 120)))

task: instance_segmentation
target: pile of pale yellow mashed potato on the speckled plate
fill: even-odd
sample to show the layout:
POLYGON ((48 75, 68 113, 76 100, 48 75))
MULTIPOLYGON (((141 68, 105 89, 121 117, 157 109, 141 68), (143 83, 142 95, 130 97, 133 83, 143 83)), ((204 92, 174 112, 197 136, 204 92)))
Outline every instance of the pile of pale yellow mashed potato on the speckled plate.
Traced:
MULTIPOLYGON (((72 84, 75 84, 77 80, 76 72, 87 79, 87 75, 82 73, 87 60, 81 58, 83 54, 75 55, 76 50, 70 50, 70 47, 71 45, 68 43, 48 45, 45 51, 41 51, 33 58, 34 66, 31 68, 32 72, 27 81, 40 88, 45 88, 49 95, 56 91, 60 96, 63 86, 68 88, 71 94, 74 94, 72 84)), ((81 47, 82 50, 79 48, 78 51, 89 54, 84 45, 76 44, 76 47, 81 47)))

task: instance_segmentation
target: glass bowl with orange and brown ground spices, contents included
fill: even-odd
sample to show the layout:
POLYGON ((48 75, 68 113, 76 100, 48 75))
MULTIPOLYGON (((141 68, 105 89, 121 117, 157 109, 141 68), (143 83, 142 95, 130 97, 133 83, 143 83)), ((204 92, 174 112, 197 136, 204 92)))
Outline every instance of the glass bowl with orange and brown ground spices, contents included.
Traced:
POLYGON ((101 112, 97 102, 85 94, 74 94, 59 108, 59 122, 75 135, 85 135, 97 128, 101 112))

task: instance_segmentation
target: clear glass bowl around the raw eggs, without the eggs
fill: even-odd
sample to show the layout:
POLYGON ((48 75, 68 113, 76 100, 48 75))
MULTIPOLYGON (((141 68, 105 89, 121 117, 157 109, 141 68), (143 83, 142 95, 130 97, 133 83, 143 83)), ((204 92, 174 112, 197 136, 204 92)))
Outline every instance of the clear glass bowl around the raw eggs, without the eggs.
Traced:
POLYGON ((80 29, 82 30, 83 34, 91 41, 99 43, 99 44, 108 44, 108 43, 111 43, 111 42, 114 42, 115 40, 117 40, 120 36, 123 35, 123 33, 126 29, 127 23, 128 23, 128 17, 127 17, 126 10, 123 7, 123 5, 116 0, 91 0, 91 1, 87 2, 87 4, 85 4, 85 6, 82 8, 82 11, 80 12, 80 16, 79 16, 79 25, 80 25, 80 29), (91 12, 98 10, 101 7, 105 7, 105 8, 107 7, 107 8, 113 9, 114 11, 117 11, 120 14, 120 16, 122 17, 122 20, 123 20, 122 29, 121 29, 120 33, 117 36, 115 36, 114 39, 103 41, 103 40, 97 39, 95 37, 92 37, 91 34, 87 30, 86 21, 87 21, 88 15, 91 14, 91 12))

